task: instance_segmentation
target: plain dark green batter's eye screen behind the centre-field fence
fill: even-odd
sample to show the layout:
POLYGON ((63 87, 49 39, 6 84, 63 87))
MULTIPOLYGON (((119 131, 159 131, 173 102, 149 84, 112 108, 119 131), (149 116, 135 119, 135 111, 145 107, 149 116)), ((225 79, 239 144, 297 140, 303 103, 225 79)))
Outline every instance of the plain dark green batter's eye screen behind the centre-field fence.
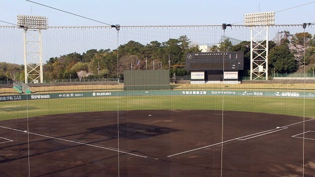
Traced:
POLYGON ((124 90, 170 89, 169 70, 126 70, 124 90))

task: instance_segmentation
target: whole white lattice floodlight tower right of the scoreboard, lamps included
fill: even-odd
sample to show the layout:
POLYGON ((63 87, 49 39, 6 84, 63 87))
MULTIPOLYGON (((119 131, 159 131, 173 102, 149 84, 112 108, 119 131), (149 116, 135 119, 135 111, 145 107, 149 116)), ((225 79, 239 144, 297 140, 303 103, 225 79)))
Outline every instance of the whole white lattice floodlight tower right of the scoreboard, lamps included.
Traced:
POLYGON ((244 18, 251 27, 251 80, 268 80, 268 26, 275 24, 275 12, 245 14, 244 18))

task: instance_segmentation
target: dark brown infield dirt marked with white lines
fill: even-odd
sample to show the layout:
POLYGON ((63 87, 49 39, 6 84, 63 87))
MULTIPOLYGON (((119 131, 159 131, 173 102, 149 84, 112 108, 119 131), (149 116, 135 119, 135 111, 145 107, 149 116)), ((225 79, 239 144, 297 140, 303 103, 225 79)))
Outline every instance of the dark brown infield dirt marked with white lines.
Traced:
POLYGON ((31 177, 295 177, 304 165, 313 177, 315 121, 306 120, 303 128, 299 117, 200 110, 4 120, 0 173, 25 177, 30 167, 31 177), (303 147, 304 129, 310 139, 303 147))

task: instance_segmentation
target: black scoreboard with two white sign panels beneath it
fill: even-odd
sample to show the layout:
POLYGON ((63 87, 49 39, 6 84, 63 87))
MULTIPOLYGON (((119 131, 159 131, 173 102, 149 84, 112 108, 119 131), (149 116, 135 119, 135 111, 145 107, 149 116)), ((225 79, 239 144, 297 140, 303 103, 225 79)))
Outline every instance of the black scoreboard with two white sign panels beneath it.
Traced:
POLYGON ((240 71, 244 70, 244 53, 187 53, 185 68, 190 71, 190 84, 237 84, 241 78, 240 71))

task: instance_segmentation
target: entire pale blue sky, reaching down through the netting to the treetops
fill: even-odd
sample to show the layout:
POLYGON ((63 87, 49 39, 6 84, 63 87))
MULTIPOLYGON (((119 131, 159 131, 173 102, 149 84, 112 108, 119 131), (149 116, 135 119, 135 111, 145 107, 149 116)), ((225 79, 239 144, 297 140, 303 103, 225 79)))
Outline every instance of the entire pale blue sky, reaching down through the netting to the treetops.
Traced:
MULTIPOLYGON (((312 0, 0 0, 0 26, 16 25, 17 15, 45 16, 48 18, 48 26, 50 27, 244 25, 244 15, 257 12, 275 12, 276 25, 299 25, 315 23, 314 9, 315 1, 312 0)), ((63 37, 60 35, 67 35, 64 39, 72 39, 72 35, 76 36, 74 31, 71 31, 71 34, 63 34, 60 30, 56 34, 48 33, 47 30, 47 36, 43 40, 44 61, 72 52, 81 54, 90 49, 114 49, 117 47, 117 44, 115 45, 104 36, 102 39, 105 41, 98 40, 99 36, 94 39, 95 36, 93 35, 97 35, 96 33, 80 34, 86 38, 94 39, 91 40, 92 42, 80 42, 81 38, 77 37, 73 39, 78 39, 78 41, 72 43, 71 41, 61 42, 63 37), (50 38, 50 35, 55 36, 50 38), (49 42, 45 42, 45 39, 49 42), (105 44, 109 46, 105 46, 105 44)), ((81 30, 79 33, 83 31, 81 30)), ((131 32, 130 36, 125 36, 128 33, 123 34, 123 31, 120 31, 120 34, 124 36, 121 36, 120 44, 125 44, 128 40, 135 40, 145 45, 148 41, 139 40, 153 40, 153 38, 148 39, 148 37, 142 36, 141 33, 137 36, 131 32)), ((11 30, 8 28, 0 31, 0 62, 23 63, 22 32, 20 29, 11 30)), ((51 32, 53 31, 51 30, 51 32)), ((177 36, 172 37, 178 37, 179 34, 176 33, 176 30, 174 32, 174 35, 177 36)), ((154 35, 155 33, 150 34, 154 35)), ((166 36, 168 35, 170 32, 166 34, 166 36)), ((212 35, 197 35, 195 33, 187 35, 193 43, 198 45, 218 42, 218 40, 211 38, 212 35), (202 42, 199 39, 194 39, 200 36, 205 37, 207 41, 202 42)), ((215 36, 220 37, 220 35, 215 36)), ((85 40, 84 37, 82 40, 85 40)), ((154 40, 158 40, 160 37, 158 36, 154 40)))

